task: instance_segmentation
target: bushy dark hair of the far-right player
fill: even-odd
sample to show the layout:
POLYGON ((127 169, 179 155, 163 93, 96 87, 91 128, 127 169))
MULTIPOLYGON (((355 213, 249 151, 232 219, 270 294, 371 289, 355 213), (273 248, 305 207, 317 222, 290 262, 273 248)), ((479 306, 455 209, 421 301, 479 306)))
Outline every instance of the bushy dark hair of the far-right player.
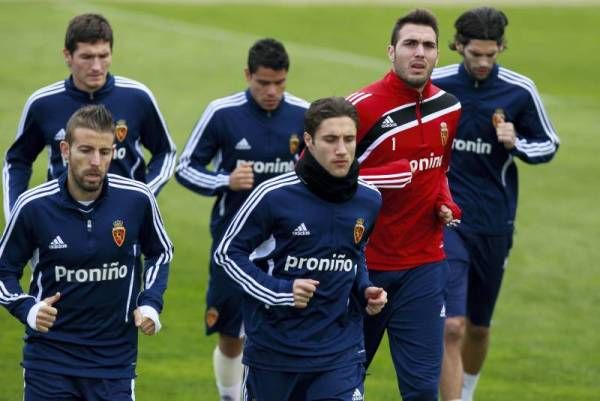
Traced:
POLYGON ((498 46, 504 45, 504 28, 508 25, 506 15, 492 7, 477 7, 465 11, 454 23, 456 34, 450 49, 456 50, 456 43, 466 46, 470 40, 493 40, 498 46))

